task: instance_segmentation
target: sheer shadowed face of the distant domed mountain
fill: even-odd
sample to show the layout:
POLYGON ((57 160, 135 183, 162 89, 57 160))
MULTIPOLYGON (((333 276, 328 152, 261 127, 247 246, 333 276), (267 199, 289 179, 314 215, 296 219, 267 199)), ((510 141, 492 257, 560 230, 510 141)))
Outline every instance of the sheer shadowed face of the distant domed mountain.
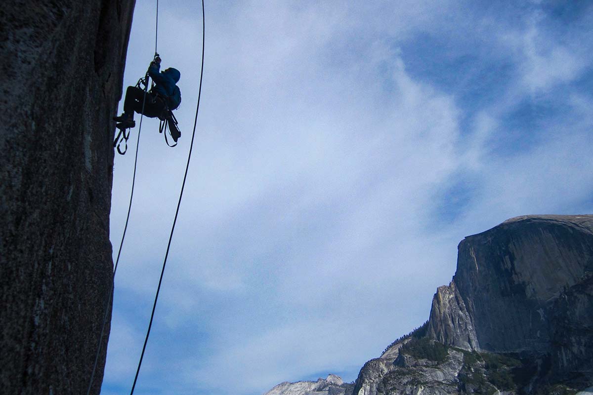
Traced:
POLYGON ((452 285, 473 322, 474 349, 550 353, 561 371, 592 368, 582 353, 593 351, 593 216, 518 217, 458 250, 452 285))

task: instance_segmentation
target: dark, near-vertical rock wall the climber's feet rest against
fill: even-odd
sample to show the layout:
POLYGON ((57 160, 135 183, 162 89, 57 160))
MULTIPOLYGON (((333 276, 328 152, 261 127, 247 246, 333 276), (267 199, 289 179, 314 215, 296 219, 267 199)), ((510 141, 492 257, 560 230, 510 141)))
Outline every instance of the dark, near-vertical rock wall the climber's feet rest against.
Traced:
POLYGON ((113 281, 110 118, 133 7, 13 0, 0 12, 3 394, 87 393, 113 281))

